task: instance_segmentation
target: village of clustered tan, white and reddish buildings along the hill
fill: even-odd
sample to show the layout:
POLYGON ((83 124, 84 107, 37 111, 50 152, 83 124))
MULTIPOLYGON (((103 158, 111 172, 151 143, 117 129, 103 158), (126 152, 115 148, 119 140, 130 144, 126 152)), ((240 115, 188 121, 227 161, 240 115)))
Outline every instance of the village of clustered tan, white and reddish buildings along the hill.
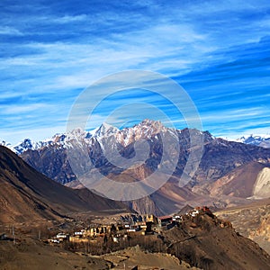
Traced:
POLYGON ((208 207, 196 207, 192 211, 184 214, 175 214, 172 216, 156 217, 153 214, 135 215, 130 214, 121 216, 115 224, 91 224, 88 228, 74 231, 71 234, 58 232, 54 238, 49 238, 50 243, 59 244, 63 241, 69 242, 88 242, 95 241, 96 238, 111 236, 113 242, 118 242, 120 238, 128 238, 131 235, 152 235, 159 234, 166 229, 181 226, 185 219, 190 219, 198 214, 208 213, 211 211, 208 207))

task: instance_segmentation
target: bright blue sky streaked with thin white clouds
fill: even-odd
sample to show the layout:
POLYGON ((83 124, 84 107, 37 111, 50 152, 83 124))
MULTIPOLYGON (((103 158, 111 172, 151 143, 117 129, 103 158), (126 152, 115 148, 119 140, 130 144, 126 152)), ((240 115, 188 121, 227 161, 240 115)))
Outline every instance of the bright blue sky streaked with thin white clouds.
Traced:
MULTIPOLYGON (((0 138, 12 143, 65 131, 78 94, 126 69, 173 78, 215 136, 270 132, 269 1, 2 0, 0 61, 0 138)), ((112 98, 89 128, 138 100, 163 105, 184 128, 149 93, 112 98)), ((115 123, 137 121, 123 115, 115 123)))

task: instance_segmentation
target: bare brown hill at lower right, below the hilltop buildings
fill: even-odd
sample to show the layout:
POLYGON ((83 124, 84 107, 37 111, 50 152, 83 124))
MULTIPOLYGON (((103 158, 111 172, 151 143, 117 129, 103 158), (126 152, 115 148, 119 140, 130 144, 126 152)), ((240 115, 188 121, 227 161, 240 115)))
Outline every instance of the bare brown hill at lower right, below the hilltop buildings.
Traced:
POLYGON ((228 221, 200 213, 164 232, 168 253, 201 269, 269 269, 270 256, 228 221))

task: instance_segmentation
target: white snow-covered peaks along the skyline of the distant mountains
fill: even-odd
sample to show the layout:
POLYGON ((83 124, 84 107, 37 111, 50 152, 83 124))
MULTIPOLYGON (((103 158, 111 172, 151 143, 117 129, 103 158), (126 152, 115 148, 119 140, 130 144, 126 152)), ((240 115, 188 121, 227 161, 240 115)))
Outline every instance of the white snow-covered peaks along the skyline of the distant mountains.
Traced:
MULTIPOLYGON (((76 129, 69 133, 57 133, 52 138, 43 139, 40 141, 33 141, 31 139, 24 139, 22 142, 12 145, 9 142, 0 140, 0 145, 12 149, 17 155, 23 154, 28 149, 37 150, 49 146, 57 146, 58 148, 67 148, 70 146, 70 141, 79 139, 84 141, 86 145, 91 144, 91 139, 100 141, 103 138, 108 138, 116 134, 117 142, 123 146, 127 146, 130 142, 136 139, 149 139, 151 136, 157 134, 159 131, 171 130, 162 125, 160 121, 145 120, 135 125, 132 128, 125 128, 119 130, 110 124, 103 123, 99 128, 94 130, 85 131, 76 129)), ((236 141, 245 144, 256 145, 263 148, 270 148, 270 135, 250 135, 242 136, 238 139, 228 139, 229 141, 236 141)))

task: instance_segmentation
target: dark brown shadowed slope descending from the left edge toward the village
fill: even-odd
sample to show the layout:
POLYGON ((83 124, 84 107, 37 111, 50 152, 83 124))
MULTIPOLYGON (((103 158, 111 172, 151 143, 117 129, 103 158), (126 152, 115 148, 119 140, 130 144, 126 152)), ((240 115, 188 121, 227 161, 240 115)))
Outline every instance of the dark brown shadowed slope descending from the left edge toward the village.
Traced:
POLYGON ((40 174, 11 150, 0 147, 0 222, 57 219, 80 211, 127 210, 87 189, 74 190, 40 174))

